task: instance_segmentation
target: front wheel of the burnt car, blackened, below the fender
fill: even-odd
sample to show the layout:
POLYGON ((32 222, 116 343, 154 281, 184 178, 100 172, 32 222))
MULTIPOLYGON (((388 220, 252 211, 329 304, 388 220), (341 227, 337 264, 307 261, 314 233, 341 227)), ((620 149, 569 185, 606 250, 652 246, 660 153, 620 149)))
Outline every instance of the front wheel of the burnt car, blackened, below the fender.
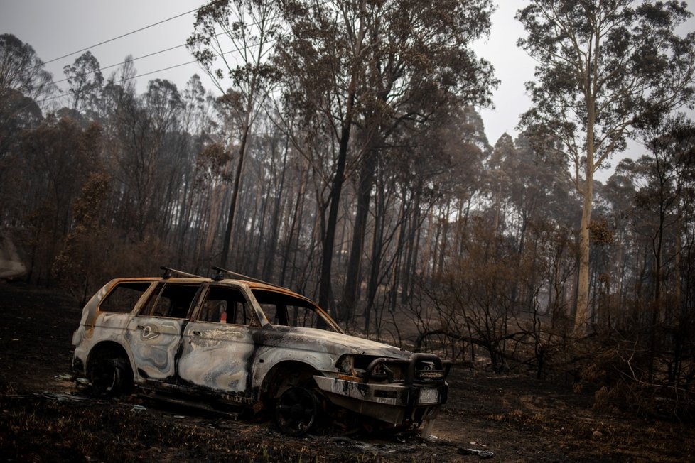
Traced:
POLYGON ((310 432, 320 416, 320 401, 308 388, 291 387, 284 391, 275 407, 275 422, 282 432, 302 436, 310 432))

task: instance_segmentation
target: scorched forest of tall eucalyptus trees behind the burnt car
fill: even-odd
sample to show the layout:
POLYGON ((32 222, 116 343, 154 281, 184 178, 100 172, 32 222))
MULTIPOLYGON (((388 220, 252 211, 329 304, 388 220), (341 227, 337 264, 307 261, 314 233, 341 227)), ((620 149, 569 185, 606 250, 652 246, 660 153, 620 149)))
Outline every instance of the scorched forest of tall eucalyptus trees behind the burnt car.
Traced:
POLYGON ((492 144, 476 108, 499 82, 470 46, 490 0, 212 1, 188 48, 215 88, 142 94, 131 58, 102 75, 87 52, 58 99, 63 76, 0 35, 0 231, 23 278, 78 300, 223 266, 348 332, 571 373, 597 403, 691 419, 695 124, 679 111, 695 35, 675 32, 690 15, 528 3, 533 107, 492 144))

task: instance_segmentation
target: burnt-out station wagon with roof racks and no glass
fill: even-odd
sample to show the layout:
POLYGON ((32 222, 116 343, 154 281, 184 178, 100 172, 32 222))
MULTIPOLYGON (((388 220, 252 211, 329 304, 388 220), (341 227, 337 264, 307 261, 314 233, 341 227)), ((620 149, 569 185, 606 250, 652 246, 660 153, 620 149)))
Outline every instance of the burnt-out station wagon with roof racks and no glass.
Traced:
POLYGON ((349 336, 291 290, 222 273, 114 279, 72 344, 73 371, 99 393, 265 408, 294 435, 325 415, 427 435, 446 402, 438 356, 349 336))

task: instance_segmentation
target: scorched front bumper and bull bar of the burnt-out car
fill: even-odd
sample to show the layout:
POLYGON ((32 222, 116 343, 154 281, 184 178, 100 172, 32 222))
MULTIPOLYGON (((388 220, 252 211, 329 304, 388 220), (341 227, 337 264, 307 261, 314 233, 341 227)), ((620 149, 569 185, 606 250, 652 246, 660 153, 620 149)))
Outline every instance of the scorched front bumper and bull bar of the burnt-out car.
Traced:
POLYGON ((343 375, 313 378, 318 388, 335 405, 393 425, 403 425, 419 424, 436 417, 447 399, 445 376, 446 371, 438 356, 412 354, 409 359, 375 359, 362 378, 343 375), (416 369, 423 361, 431 361, 435 370, 416 369), (405 377, 395 380, 375 371, 389 371, 389 365, 404 369, 405 377))

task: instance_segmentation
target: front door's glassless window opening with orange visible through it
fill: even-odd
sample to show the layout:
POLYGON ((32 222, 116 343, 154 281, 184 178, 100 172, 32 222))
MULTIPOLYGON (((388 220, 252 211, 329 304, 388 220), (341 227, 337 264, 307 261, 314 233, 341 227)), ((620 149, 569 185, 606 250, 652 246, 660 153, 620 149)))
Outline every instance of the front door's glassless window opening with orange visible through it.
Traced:
POLYGON ((211 285, 200 307, 198 320, 201 322, 219 322, 235 325, 250 325, 251 307, 244 294, 227 286, 211 285))

